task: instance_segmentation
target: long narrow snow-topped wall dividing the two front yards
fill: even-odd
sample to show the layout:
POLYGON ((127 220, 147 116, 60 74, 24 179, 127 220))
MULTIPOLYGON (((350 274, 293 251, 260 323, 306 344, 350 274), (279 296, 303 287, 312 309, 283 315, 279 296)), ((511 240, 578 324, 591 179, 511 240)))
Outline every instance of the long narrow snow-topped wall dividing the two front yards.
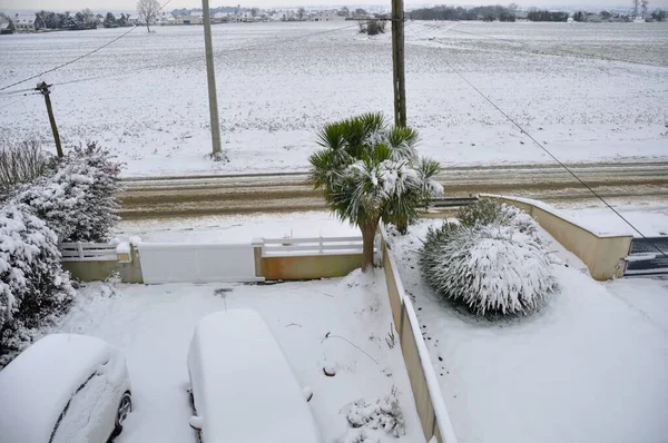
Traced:
POLYGON ((381 233, 383 236, 383 270, 392 317, 399 332, 401 352, 411 381, 424 439, 430 441, 435 436, 436 441, 441 443, 456 443, 436 374, 420 332, 420 323, 413 303, 404 293, 399 269, 390 255, 387 234, 384 228, 381 228, 381 233))

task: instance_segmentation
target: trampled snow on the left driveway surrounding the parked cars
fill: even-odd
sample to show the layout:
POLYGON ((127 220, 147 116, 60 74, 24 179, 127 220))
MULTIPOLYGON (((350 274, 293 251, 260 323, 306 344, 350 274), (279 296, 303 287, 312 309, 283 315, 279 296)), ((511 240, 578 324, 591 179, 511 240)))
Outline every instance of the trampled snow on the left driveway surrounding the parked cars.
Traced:
POLYGON ((313 388, 310 405, 323 442, 358 442, 354 439, 361 433, 374 442, 424 441, 401 350, 385 342, 391 312, 382 274, 356 272, 342 279, 273 286, 87 285, 59 331, 104 338, 127 356, 135 411, 119 443, 196 441, 188 426, 188 344, 200 317, 235 307, 259 312, 298 382, 313 388), (363 351, 338 337, 325 339, 327 333, 363 351), (325 376, 323 366, 333 366, 336 376, 325 376), (384 397, 393 386, 405 416, 404 436, 348 426, 345 414, 352 402, 384 397))

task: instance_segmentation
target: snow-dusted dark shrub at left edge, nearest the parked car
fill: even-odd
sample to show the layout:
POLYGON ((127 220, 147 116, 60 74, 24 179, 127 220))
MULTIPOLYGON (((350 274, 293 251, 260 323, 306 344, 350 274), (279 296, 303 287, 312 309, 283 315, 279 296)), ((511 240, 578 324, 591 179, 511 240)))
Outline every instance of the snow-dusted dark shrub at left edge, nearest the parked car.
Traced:
POLYGON ((0 209, 0 367, 72 301, 56 234, 24 205, 0 209))

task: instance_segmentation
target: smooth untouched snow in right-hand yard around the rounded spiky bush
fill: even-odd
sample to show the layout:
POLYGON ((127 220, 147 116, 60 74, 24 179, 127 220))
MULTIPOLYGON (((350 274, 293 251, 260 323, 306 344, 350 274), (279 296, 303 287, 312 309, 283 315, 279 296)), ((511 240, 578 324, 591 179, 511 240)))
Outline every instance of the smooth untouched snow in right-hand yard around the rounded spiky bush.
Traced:
POLYGON ((420 277, 420 239, 440 223, 412 226, 392 253, 460 442, 665 441, 668 280, 597 283, 552 240, 561 293, 529 317, 475 319, 420 277))

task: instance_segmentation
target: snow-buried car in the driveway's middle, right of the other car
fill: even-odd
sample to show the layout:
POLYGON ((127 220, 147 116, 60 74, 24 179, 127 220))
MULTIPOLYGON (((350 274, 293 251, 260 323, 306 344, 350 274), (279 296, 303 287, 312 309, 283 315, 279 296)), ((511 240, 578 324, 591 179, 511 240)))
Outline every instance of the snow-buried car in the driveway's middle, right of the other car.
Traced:
POLYGON ((229 309, 202 318, 188 373, 190 426, 203 442, 321 442, 307 398, 257 312, 229 309))

